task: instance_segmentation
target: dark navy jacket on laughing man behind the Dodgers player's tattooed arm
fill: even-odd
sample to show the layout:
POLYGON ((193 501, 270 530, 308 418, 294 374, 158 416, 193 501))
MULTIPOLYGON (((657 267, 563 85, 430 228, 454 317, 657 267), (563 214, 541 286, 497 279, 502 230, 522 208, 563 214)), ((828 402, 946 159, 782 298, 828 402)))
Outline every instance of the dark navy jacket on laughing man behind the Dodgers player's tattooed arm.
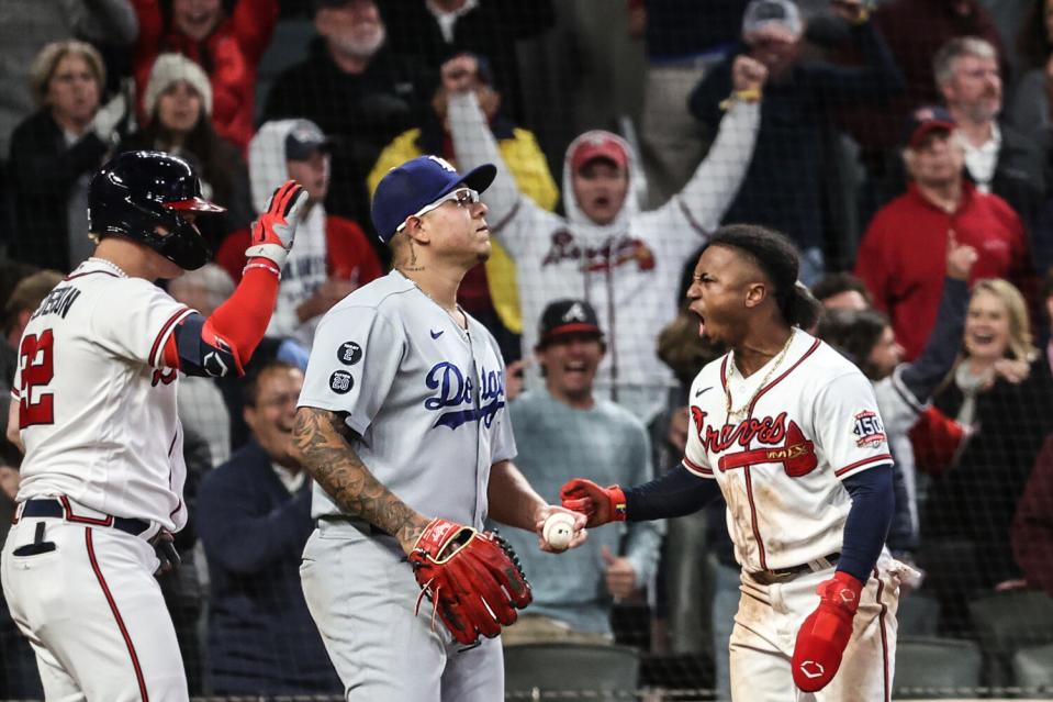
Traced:
POLYGON ((290 494, 255 441, 201 481, 198 534, 212 579, 216 694, 340 692, 300 586, 313 531, 311 482, 290 494))

